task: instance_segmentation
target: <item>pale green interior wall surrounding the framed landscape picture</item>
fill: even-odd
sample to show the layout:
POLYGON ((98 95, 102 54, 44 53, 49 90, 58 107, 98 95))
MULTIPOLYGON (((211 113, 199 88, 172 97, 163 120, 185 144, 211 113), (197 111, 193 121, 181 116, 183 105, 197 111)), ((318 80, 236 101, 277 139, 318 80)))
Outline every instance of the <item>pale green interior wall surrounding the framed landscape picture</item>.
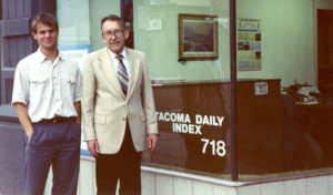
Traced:
POLYGON ((142 0, 133 1, 134 47, 145 53, 151 79, 183 81, 229 80, 228 0, 142 0), (218 16, 219 58, 179 60, 179 13, 218 16), (158 22, 160 25, 154 27, 158 22))

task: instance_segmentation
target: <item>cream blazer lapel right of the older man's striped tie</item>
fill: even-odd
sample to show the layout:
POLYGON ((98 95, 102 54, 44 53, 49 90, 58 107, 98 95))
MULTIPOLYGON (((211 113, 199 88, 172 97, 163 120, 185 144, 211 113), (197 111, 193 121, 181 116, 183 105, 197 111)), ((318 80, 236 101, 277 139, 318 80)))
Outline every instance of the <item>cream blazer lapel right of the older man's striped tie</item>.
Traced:
POLYGON ((138 81, 139 76, 139 70, 140 70, 140 61, 135 59, 135 54, 127 49, 128 54, 128 61, 129 61, 129 69, 130 69, 130 82, 129 82, 129 89, 128 89, 128 95, 127 98, 131 96, 133 89, 135 86, 135 83, 138 81))

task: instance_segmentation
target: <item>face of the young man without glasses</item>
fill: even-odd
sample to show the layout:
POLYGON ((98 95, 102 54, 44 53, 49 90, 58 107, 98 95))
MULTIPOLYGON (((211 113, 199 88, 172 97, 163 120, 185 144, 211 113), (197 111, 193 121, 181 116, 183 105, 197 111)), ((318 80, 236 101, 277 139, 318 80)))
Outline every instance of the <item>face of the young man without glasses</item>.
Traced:
POLYGON ((43 23, 37 24, 37 32, 32 34, 37 40, 39 48, 44 50, 57 49, 59 32, 54 27, 50 27, 43 23))

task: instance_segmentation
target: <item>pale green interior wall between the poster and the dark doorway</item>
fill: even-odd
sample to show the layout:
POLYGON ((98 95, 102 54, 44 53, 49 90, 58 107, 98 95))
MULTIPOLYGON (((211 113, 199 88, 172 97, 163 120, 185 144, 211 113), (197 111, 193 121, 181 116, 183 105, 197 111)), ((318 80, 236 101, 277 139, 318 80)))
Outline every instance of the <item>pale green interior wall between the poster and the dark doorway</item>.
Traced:
POLYGON ((239 78, 282 79, 315 84, 313 0, 239 0, 236 18, 260 19, 262 70, 240 71, 239 78))

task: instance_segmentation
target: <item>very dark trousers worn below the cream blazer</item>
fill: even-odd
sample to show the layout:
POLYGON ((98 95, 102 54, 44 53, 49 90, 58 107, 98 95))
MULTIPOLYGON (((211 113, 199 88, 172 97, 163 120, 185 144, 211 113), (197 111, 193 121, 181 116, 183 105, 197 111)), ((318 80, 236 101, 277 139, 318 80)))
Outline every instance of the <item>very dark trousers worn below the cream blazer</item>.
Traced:
POLYGON ((129 124, 117 154, 100 154, 95 158, 98 195, 114 195, 119 179, 120 195, 141 194, 141 152, 132 142, 129 124))

